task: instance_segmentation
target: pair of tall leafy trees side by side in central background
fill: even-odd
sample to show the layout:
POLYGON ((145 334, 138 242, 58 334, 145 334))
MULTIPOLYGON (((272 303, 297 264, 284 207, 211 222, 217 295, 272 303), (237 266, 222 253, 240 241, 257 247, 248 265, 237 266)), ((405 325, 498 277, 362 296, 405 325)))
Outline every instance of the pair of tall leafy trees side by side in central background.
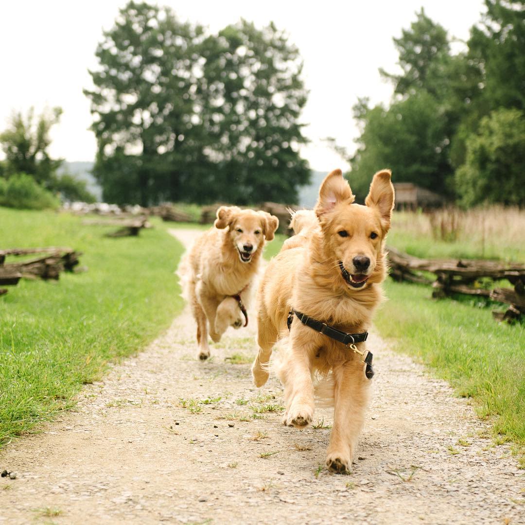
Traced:
POLYGON ((107 201, 292 203, 309 181, 302 61, 274 24, 209 34, 129 2, 96 57, 85 94, 107 201))

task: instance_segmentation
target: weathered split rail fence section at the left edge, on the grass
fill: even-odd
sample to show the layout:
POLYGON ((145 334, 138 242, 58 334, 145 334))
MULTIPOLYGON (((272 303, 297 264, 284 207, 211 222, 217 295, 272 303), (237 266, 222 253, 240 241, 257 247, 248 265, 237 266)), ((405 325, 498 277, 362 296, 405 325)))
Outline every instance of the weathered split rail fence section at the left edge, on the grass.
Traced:
MULTIPOLYGON (((0 285, 14 286, 22 278, 58 279, 62 271, 74 271, 80 253, 72 248, 13 248, 0 250, 0 285), (36 255, 31 259, 5 264, 7 256, 36 255)), ((0 288, 0 295, 7 293, 0 288)))

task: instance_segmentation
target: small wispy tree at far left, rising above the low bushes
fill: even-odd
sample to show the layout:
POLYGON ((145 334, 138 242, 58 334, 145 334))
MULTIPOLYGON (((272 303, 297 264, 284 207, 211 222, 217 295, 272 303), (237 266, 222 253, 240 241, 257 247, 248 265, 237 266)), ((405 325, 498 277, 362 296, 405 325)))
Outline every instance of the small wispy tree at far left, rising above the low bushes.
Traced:
POLYGON ((63 159, 51 159, 48 149, 51 144, 50 130, 58 123, 62 110, 53 108, 35 117, 33 108, 26 115, 13 113, 8 127, 0 133, 0 144, 6 160, 5 175, 27 173, 40 184, 48 184, 63 159))

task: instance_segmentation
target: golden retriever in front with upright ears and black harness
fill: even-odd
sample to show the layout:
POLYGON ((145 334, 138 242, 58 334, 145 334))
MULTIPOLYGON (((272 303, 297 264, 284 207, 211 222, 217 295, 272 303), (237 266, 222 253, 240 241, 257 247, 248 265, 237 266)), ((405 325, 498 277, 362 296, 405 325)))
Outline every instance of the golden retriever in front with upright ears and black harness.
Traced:
POLYGON ((362 341, 382 299, 383 247, 394 207, 390 178, 388 170, 377 172, 362 206, 353 204, 341 171, 330 173, 314 210, 292 217, 296 235, 270 261, 259 288, 254 382, 266 383, 272 347, 280 339, 276 367, 285 387, 283 423, 308 425, 314 393, 323 390, 322 397, 334 403, 327 452, 327 466, 334 472, 352 465, 367 404, 367 378, 373 374, 369 359, 364 363, 362 341), (315 376, 321 378, 319 391, 315 376))

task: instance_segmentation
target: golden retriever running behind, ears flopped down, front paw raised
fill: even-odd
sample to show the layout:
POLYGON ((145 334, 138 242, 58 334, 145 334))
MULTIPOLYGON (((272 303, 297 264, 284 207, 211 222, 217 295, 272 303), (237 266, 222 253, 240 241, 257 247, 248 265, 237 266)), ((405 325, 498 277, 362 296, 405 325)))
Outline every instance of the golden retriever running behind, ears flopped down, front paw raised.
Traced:
POLYGON ((218 342, 229 326, 248 323, 245 305, 262 248, 278 226, 277 217, 269 213, 221 206, 214 226, 199 235, 184 256, 178 275, 197 322, 199 359, 209 357, 208 330, 218 342))

